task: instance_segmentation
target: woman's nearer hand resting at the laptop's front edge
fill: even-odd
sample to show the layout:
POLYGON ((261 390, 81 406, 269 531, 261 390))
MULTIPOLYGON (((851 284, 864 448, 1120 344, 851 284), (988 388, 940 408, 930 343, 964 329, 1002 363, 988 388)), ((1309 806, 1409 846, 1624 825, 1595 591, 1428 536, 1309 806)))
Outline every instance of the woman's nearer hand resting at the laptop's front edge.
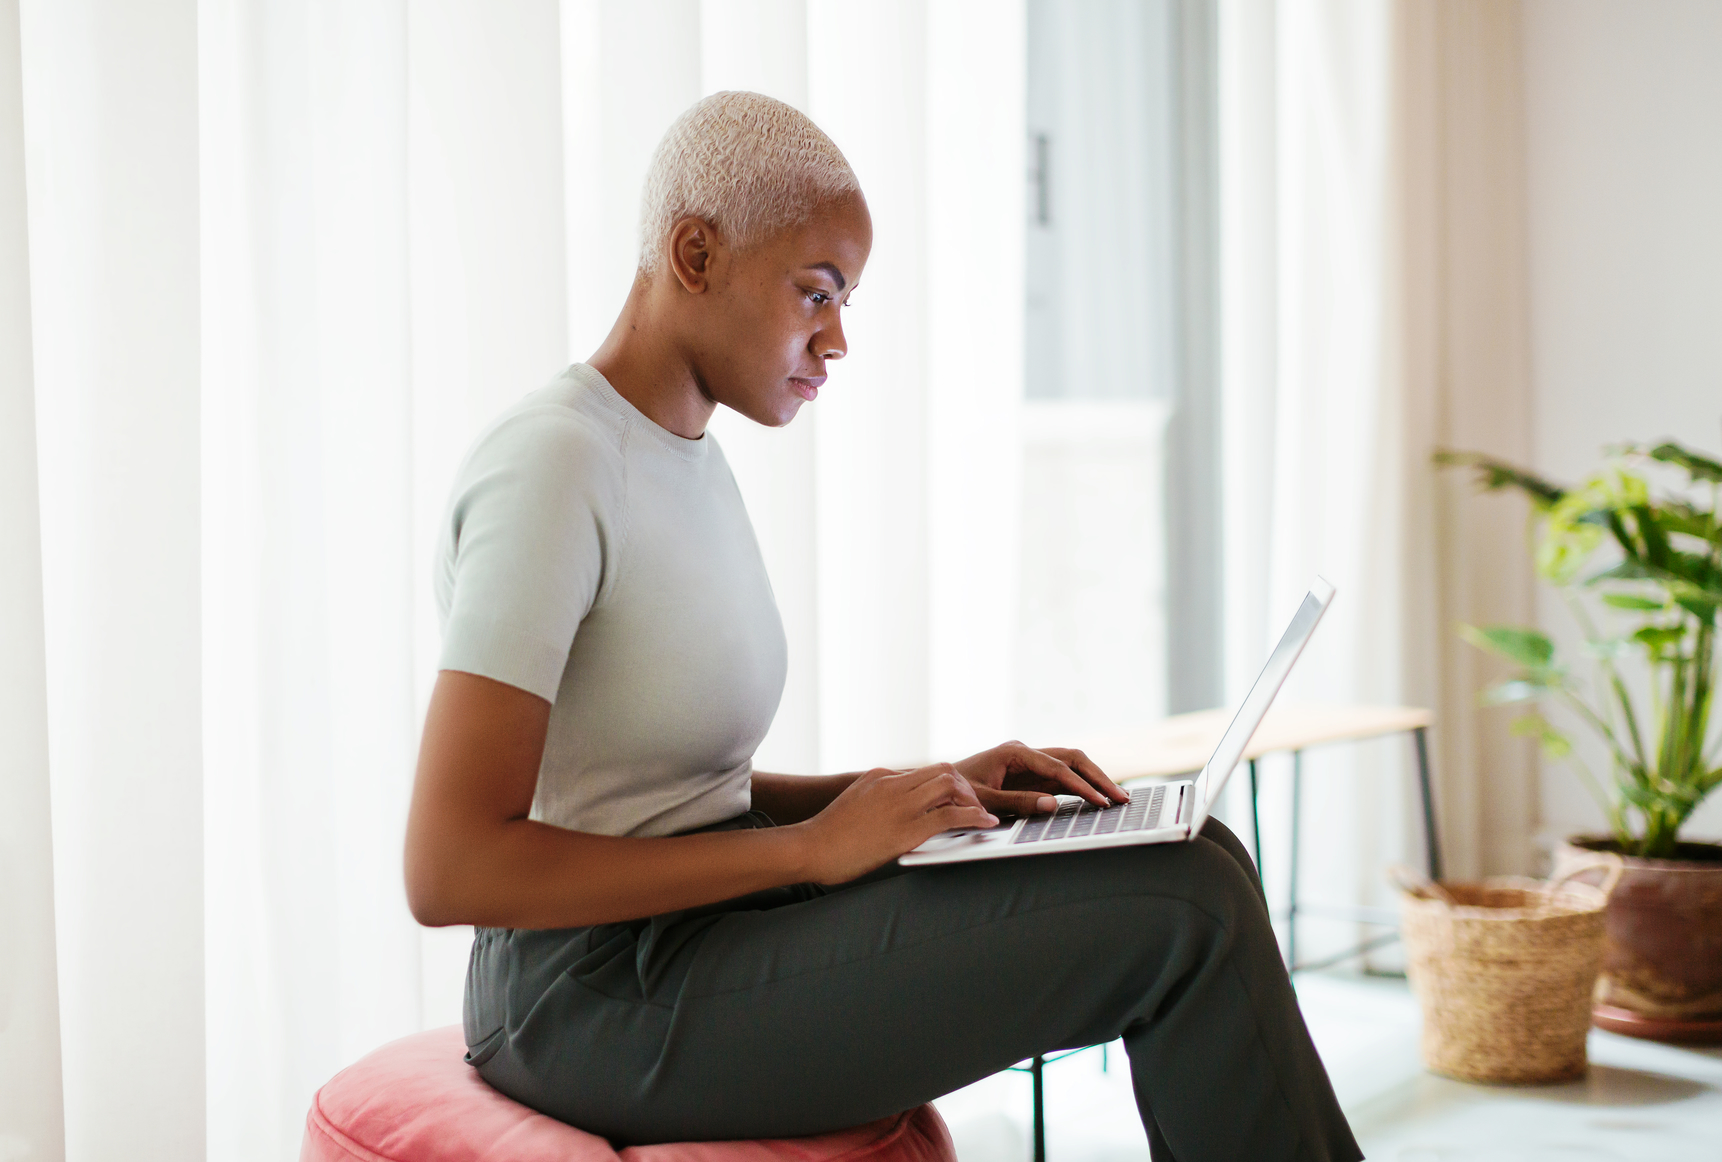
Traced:
POLYGON ((844 883, 952 828, 997 826, 951 763, 871 770, 806 823, 809 880, 844 883))

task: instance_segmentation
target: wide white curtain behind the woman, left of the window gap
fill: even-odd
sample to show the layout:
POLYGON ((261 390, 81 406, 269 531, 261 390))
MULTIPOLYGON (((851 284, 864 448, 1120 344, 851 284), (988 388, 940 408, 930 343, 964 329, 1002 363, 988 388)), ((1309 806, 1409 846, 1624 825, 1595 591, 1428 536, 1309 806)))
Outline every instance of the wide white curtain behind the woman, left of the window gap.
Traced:
POLYGON ((291 1159, 317 1085, 458 1019, 467 933, 418 930, 400 876, 432 532, 482 422, 606 332, 649 151, 703 93, 806 108, 876 229, 820 405, 715 425, 790 635, 759 764, 1006 733, 1016 5, 0 24, 0 1157, 291 1159))

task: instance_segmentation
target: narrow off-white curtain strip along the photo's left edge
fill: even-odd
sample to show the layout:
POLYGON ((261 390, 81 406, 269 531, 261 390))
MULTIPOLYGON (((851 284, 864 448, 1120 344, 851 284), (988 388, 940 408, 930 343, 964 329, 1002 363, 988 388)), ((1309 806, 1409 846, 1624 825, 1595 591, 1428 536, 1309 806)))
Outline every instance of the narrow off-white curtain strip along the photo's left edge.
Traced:
POLYGON ((0 1157, 65 1153, 53 971, 48 685, 31 382, 24 105, 15 0, 0 0, 0 1157))

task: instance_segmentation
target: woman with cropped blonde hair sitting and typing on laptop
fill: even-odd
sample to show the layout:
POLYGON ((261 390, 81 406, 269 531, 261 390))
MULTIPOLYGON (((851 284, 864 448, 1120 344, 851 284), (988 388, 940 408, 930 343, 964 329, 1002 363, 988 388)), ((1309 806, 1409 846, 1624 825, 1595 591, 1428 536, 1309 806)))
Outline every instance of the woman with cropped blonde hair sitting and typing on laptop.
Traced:
POLYGON ((784 630, 718 405, 782 425, 846 353, 871 246, 849 164, 720 93, 646 181, 591 363, 461 465, 406 888, 479 928, 468 1060, 618 1141, 782 1138, 1123 1036, 1157 1159, 1357 1159, 1248 857, 1192 844, 901 871, 954 826, 1123 800, 1080 751, 754 771, 784 630))

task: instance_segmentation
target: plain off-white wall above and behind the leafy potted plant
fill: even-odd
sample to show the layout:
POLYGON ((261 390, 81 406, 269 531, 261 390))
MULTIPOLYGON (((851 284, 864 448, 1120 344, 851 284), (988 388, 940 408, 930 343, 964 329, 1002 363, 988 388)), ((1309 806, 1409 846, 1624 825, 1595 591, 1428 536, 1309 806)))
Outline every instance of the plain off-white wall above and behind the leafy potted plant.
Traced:
MULTIPOLYGON (((1536 465, 1574 480, 1629 439, 1722 451, 1722 3, 1527 0, 1524 40, 1536 465)), ((1545 766, 1545 828, 1595 825, 1545 766)), ((1722 835, 1722 797, 1691 831, 1722 835)))

